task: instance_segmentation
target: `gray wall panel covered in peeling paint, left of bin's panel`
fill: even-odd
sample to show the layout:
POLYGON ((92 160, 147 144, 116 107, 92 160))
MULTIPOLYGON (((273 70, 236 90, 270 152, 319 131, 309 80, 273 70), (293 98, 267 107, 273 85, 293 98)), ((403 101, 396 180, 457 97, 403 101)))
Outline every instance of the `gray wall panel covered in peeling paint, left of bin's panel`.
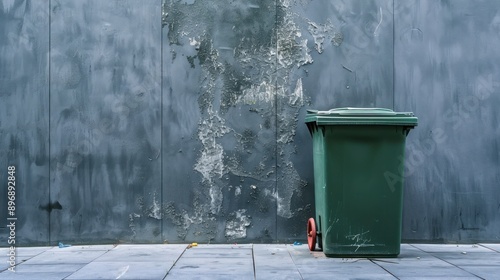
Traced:
POLYGON ((164 236, 276 238, 274 1, 165 1, 164 236))

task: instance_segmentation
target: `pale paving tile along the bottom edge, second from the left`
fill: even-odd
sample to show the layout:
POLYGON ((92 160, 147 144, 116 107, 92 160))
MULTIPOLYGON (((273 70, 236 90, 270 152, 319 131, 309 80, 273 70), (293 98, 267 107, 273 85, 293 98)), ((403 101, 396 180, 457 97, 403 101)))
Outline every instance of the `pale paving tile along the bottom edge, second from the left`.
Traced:
POLYGON ((163 279, 171 265, 156 262, 92 262, 65 279, 163 279))

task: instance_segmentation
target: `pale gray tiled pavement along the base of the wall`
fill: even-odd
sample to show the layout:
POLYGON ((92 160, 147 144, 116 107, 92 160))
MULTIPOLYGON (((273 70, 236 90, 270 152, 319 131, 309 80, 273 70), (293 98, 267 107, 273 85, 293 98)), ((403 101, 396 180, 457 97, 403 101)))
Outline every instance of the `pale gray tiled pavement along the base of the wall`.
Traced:
POLYGON ((326 258, 307 245, 0 248, 0 279, 500 279, 500 244, 402 244, 398 258, 326 258))

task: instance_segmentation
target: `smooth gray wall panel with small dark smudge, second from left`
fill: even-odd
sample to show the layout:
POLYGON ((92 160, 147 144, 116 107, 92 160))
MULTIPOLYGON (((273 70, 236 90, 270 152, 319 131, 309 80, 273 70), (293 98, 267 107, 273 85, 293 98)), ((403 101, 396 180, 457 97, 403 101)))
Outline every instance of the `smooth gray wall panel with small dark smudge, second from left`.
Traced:
POLYGON ((51 239, 161 240, 160 1, 51 2, 51 239))

